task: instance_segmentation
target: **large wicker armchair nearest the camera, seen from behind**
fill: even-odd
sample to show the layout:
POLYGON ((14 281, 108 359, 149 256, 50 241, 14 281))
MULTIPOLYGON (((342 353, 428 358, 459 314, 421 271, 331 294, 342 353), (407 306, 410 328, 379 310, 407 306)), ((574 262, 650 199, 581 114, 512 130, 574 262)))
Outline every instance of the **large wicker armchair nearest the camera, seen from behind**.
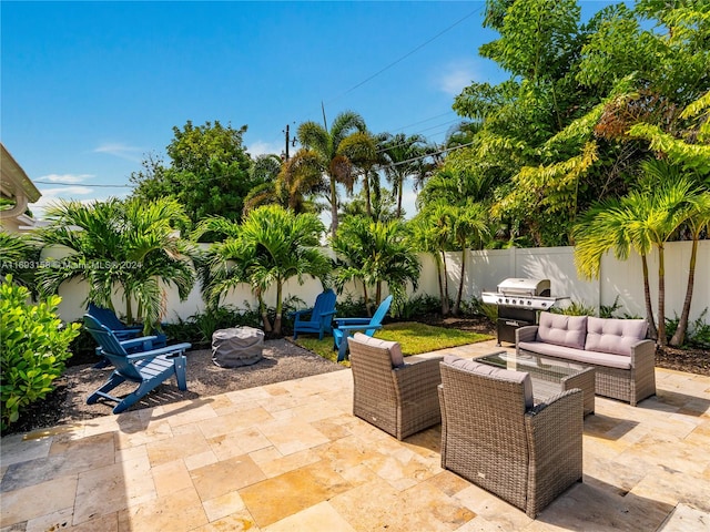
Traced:
POLYGON ((581 481, 582 392, 529 408, 524 387, 442 362, 442 467, 535 519, 581 481))

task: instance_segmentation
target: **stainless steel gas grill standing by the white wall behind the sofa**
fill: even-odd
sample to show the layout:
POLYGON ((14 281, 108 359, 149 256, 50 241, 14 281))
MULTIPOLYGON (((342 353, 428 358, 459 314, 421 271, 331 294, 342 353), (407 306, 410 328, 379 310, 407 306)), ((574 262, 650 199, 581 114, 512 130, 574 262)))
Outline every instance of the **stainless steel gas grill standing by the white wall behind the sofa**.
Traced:
POLYGON ((496 332, 501 341, 515 344, 515 329, 537 324, 539 310, 551 308, 565 297, 550 296, 549 279, 510 277, 498 284, 497 291, 484 291, 484 303, 498 306, 496 332))

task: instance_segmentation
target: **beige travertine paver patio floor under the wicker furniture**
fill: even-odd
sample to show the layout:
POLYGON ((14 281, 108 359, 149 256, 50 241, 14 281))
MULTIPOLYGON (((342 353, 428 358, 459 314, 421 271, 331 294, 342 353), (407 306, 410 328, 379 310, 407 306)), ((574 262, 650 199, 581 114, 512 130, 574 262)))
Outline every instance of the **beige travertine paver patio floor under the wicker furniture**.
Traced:
MULTIPOLYGON (((450 349, 489 352, 493 342, 450 349)), ((585 478, 537 520, 354 418, 336 371, 2 439, 7 531, 710 530, 710 378, 597 398, 585 478)), ((106 407, 108 410, 109 407, 106 407)))

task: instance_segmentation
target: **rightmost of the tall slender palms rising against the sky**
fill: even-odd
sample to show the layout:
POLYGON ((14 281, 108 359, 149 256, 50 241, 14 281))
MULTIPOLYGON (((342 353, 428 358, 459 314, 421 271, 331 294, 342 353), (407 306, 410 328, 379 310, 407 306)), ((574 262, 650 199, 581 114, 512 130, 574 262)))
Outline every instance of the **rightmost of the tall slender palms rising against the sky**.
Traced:
POLYGON ((422 135, 384 133, 378 140, 379 152, 386 161, 385 175, 397 194, 397 217, 399 218, 405 181, 413 175, 423 181, 429 171, 429 166, 423 158, 427 153, 426 139, 422 135))

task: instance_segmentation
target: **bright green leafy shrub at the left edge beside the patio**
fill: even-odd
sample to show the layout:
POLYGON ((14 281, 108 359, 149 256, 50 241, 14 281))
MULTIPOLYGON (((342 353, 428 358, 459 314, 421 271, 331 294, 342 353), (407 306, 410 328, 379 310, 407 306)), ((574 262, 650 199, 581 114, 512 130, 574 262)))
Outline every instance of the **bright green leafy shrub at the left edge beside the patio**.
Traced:
POLYGON ((62 375, 71 356, 69 344, 79 325, 63 327, 57 317, 59 296, 30 305, 30 291, 12 284, 8 275, 0 286, 0 403, 1 427, 20 418, 28 405, 52 391, 52 381, 62 375))

